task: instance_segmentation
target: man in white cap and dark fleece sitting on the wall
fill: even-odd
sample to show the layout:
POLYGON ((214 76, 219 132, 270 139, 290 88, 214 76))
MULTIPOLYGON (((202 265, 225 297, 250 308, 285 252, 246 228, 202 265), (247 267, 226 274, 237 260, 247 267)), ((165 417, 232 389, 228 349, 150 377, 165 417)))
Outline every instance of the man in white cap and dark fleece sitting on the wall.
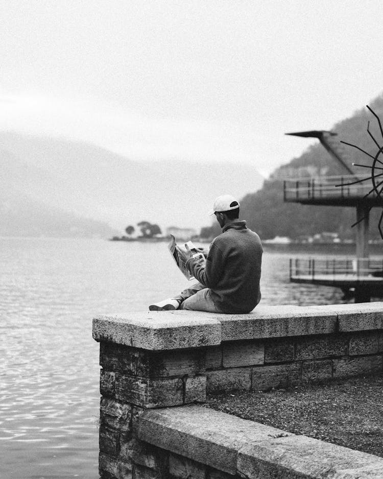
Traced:
POLYGON ((214 238, 201 265, 178 248, 196 278, 178 296, 151 304, 151 311, 192 309, 209 313, 249 313, 260 301, 262 245, 259 236, 239 220, 240 203, 230 195, 214 201, 222 233, 214 238))

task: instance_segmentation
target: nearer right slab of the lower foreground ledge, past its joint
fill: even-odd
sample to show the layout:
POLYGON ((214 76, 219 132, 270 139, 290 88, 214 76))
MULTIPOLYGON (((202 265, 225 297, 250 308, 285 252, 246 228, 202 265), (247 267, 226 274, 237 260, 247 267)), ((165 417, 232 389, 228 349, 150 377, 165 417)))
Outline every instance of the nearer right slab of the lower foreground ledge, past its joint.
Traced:
POLYGON ((383 459, 306 436, 288 436, 242 448, 238 473, 248 479, 367 479, 381 477, 383 459), (365 475, 371 469, 379 475, 365 475))

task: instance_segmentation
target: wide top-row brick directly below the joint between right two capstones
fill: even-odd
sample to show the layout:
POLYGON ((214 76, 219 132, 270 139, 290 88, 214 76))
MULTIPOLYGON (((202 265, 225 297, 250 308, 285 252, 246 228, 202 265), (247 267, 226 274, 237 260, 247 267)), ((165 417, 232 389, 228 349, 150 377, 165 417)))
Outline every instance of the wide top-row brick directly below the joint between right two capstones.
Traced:
POLYGON ((348 338, 345 334, 305 336, 296 340, 296 360, 320 359, 348 354, 348 338))

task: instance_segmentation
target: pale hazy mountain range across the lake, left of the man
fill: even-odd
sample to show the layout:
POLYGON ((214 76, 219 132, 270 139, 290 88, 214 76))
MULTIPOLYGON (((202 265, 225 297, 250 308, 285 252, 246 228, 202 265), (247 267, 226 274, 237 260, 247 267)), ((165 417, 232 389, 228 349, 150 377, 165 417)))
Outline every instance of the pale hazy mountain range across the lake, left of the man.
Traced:
MULTIPOLYGON (((215 197, 226 192, 243 196, 263 181, 247 164, 135 162, 84 142, 16 132, 0 133, 0 150, 8 223, 12 211, 17 223, 17 208, 25 201, 34 205, 35 217, 37 210, 48 216, 61 210, 72 218, 106 222, 120 232, 142 220, 161 227, 198 228, 209 222, 207 212, 215 197)), ((10 234, 7 231, 2 227, 0 234, 10 234)))

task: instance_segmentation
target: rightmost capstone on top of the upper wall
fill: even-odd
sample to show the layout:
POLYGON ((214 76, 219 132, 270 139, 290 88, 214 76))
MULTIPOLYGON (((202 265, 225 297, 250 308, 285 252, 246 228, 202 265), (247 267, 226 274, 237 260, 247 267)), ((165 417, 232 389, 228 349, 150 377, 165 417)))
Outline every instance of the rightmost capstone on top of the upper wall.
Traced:
POLYGON ((383 302, 381 301, 310 307, 317 310, 326 309, 337 314, 341 332, 383 329, 383 302))

